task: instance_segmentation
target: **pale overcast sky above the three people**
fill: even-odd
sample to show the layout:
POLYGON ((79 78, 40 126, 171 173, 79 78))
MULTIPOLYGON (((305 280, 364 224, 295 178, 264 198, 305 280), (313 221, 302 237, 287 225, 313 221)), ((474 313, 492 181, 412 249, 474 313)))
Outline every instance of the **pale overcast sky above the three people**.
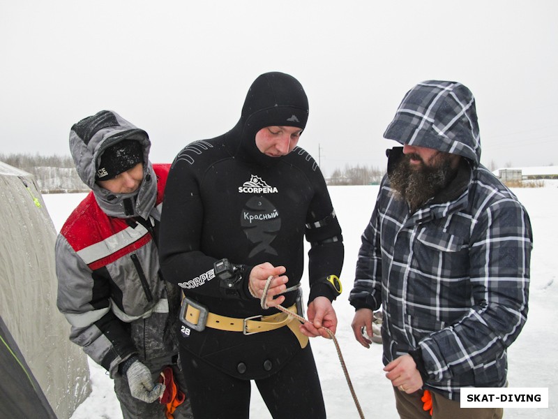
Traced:
POLYGON ((282 71, 326 174, 384 168, 386 126, 430 79, 472 90, 485 166, 558 165, 557 17, 555 0, 0 0, 0 153, 69 154, 70 127, 109 109, 169 162, 282 71))

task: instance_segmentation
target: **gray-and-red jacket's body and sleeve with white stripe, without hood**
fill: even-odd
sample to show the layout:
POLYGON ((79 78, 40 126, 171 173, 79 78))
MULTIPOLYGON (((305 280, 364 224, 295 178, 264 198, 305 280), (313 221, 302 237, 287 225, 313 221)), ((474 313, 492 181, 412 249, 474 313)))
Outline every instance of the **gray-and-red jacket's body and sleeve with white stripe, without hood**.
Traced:
MULTIPOLYGON (((153 171, 151 226, 160 219, 169 165, 153 171)), ((56 239, 57 304, 71 325, 70 340, 111 374, 136 351, 125 323, 168 311, 156 243, 144 224, 108 216, 91 192, 56 239)))

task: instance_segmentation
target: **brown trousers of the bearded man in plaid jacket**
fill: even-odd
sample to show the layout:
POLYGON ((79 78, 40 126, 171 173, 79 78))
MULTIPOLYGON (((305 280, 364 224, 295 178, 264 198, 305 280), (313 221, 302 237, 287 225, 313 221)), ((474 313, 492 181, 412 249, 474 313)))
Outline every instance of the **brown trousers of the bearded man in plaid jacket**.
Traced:
POLYGON ((423 410, 422 390, 408 395, 394 387, 393 392, 395 392, 395 406, 401 419, 502 419, 504 415, 504 409, 495 407, 461 409, 460 402, 446 399, 431 391, 432 416, 430 416, 428 411, 423 410))

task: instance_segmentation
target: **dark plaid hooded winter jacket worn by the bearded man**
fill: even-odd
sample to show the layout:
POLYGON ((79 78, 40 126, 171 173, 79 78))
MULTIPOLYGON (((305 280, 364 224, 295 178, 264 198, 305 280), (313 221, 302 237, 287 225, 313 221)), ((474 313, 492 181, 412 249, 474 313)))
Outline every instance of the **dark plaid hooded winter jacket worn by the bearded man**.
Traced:
POLYGON ((465 157, 470 179, 409 214, 384 177, 349 301, 382 305, 384 364, 418 353, 424 388, 459 400, 460 387, 504 387, 506 348, 527 320, 532 234, 525 208, 479 164, 474 98, 460 83, 422 82, 384 137, 465 157))

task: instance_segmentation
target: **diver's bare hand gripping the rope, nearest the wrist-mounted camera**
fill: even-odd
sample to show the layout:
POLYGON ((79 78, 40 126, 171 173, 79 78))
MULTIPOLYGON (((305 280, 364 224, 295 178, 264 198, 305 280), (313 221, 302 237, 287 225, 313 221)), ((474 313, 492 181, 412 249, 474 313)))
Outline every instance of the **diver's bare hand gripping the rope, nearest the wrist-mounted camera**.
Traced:
POLYGON ((273 299, 273 297, 285 292, 287 289, 285 284, 287 284, 289 279, 283 275, 286 271, 287 269, 284 266, 274 267, 269 262, 256 265, 252 268, 250 278, 248 278, 248 287, 250 287, 251 293, 256 295, 257 298, 262 298, 267 279, 269 277, 273 277, 267 291, 266 304, 267 307, 276 307, 282 304, 282 302, 285 301, 284 295, 281 295, 276 299, 273 299))

